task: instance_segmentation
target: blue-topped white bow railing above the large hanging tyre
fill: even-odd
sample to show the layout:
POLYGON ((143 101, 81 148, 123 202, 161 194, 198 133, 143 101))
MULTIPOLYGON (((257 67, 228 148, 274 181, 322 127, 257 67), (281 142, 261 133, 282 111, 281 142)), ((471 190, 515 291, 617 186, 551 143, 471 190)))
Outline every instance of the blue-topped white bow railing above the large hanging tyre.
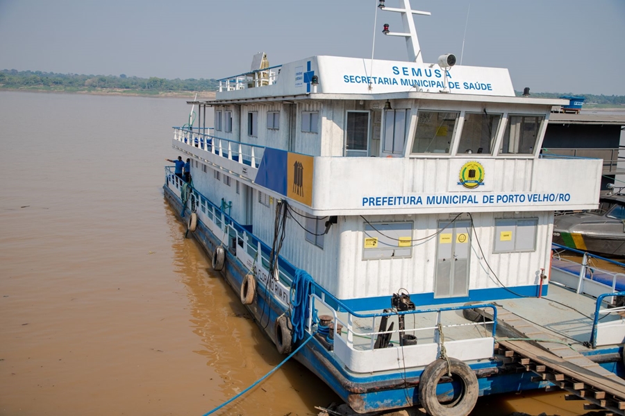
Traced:
MULTIPOLYGON (((398 333, 401 337, 401 333, 415 333, 417 331, 434 331, 434 339, 435 343, 440 343, 440 339, 442 337, 442 333, 444 332, 444 328, 452 328, 452 327, 479 327, 487 324, 492 324, 492 328, 490 331, 490 336, 494 338, 495 332, 497 331, 497 307, 494 304, 472 304, 472 305, 460 305, 460 306, 447 306, 442 308, 433 308, 433 309, 417 309, 414 311, 392 311, 392 312, 374 312, 374 313, 358 313, 356 311, 352 311, 348 306, 338 300, 336 297, 328 293, 322 286, 319 286, 316 282, 313 283, 317 291, 320 292, 320 296, 316 293, 310 294, 310 312, 308 315, 308 332, 313 332, 313 311, 315 311, 315 302, 319 302, 320 304, 326 306, 332 313, 333 318, 333 336, 334 339, 337 339, 341 334, 338 333, 338 324, 341 324, 342 327, 347 331, 346 340, 347 345, 351 349, 353 349, 353 338, 367 338, 369 339, 369 348, 374 349, 376 337, 381 334, 387 333, 398 333), (335 305, 332 306, 328 302, 326 302, 326 297, 331 299, 331 302, 335 305), (492 321, 483 321, 483 322, 467 322, 462 324, 443 324, 442 322, 442 313, 447 311, 461 311, 462 309, 476 309, 476 308, 490 308, 492 309, 492 321), (339 318, 338 311, 347 312, 347 318, 341 319, 339 318), (393 329, 392 331, 375 331, 376 328, 376 320, 378 318, 383 317, 391 317, 391 316, 401 316, 401 315, 416 315, 421 313, 436 313, 436 325, 433 327, 419 327, 419 328, 408 328, 408 329, 393 329), (370 328, 374 329, 373 331, 357 331, 354 329, 353 318, 364 318, 371 320, 370 328)), ((359 324, 362 326, 361 324, 359 324)), ((486 336, 486 335, 485 335, 486 336)))

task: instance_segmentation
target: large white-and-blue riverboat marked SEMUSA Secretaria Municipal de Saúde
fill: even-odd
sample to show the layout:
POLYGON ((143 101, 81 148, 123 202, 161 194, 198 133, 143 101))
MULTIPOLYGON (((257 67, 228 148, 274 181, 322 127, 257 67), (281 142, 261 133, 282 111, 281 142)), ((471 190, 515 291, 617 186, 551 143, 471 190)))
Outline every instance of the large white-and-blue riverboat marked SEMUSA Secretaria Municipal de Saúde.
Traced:
POLYGON ((424 62, 429 13, 378 7, 401 15, 403 32, 382 28, 407 61, 258 53, 188 102, 172 146, 192 180, 165 166, 163 186, 186 234, 356 413, 468 415, 483 395, 563 388, 623 414, 616 286, 551 259, 554 212, 597 209, 601 159, 541 154, 564 101, 515 96, 507 69, 424 62))

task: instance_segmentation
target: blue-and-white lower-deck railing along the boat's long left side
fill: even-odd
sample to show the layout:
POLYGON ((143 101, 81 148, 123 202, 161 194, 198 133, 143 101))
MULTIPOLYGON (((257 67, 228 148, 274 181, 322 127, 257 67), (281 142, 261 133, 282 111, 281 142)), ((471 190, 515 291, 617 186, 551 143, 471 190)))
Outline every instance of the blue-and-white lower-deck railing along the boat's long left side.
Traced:
MULTIPOLYGON (((181 177, 174 175, 173 169, 173 166, 165 166, 166 183, 168 187, 171 185, 180 194, 186 182, 181 177)), ((242 260, 242 263, 251 263, 250 271, 256 271, 260 275, 262 269, 265 275, 269 275, 269 259, 272 248, 257 239, 250 231, 249 225, 241 225, 233 220, 231 216, 226 214, 224 207, 216 205, 193 187, 190 203, 191 208, 195 208, 199 220, 211 229, 213 234, 220 239, 222 245, 242 260)), ((275 270, 272 278, 280 282, 285 288, 289 288, 295 275, 294 266, 283 257, 278 256, 275 270)))

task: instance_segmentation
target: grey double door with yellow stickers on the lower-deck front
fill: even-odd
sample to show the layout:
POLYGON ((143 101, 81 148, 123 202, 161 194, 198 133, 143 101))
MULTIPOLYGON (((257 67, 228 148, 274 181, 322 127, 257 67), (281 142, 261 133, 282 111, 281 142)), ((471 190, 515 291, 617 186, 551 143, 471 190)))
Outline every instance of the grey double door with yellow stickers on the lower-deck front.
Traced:
POLYGON ((469 295, 471 222, 439 221, 434 297, 469 295))

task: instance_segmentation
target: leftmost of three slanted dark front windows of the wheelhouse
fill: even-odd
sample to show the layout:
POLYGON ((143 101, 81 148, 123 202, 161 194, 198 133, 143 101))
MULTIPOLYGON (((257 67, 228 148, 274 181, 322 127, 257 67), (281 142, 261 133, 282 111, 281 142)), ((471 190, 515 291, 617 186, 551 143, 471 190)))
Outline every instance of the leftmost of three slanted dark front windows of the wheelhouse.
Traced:
POLYGON ((419 111, 412 153, 449 155, 459 114, 451 111, 419 111))

